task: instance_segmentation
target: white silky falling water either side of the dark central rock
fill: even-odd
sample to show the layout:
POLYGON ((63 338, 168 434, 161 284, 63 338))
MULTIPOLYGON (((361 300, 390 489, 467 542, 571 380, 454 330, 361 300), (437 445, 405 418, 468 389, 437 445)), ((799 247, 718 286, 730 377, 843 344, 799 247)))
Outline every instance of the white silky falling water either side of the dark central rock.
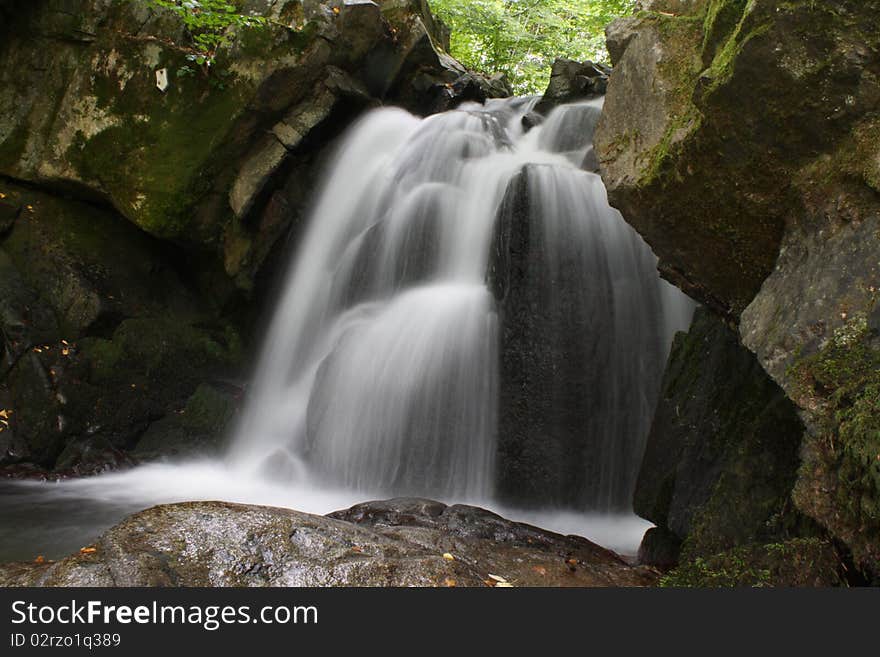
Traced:
MULTIPOLYGON (((592 420, 619 441, 603 437, 594 454, 600 462, 584 476, 620 479, 616 489, 632 485, 647 425, 621 416, 649 417, 660 372, 644 371, 644 359, 628 350, 664 358, 691 305, 660 281, 656 259, 608 207, 599 177, 582 170, 595 161, 601 101, 558 108, 525 133, 521 119, 534 104, 489 101, 424 120, 381 109, 351 131, 287 275, 230 450, 233 466, 365 492, 492 495, 503 382, 487 269, 499 208, 528 167, 530 196, 547 206, 546 247, 573 240, 579 257, 604 263, 585 269, 599 275, 577 282, 585 299, 591 286, 613 287, 602 299, 614 307, 586 310, 614 318, 598 328, 632 336, 583 336, 606 350, 602 365, 615 368, 604 382, 649 391, 623 411, 618 392, 639 396, 602 391, 612 401, 600 410, 614 417, 592 420), (642 324, 665 330, 651 333, 652 342, 642 324), (642 385, 640 377, 651 380, 642 385)), ((594 497, 602 494, 611 497, 594 497)))

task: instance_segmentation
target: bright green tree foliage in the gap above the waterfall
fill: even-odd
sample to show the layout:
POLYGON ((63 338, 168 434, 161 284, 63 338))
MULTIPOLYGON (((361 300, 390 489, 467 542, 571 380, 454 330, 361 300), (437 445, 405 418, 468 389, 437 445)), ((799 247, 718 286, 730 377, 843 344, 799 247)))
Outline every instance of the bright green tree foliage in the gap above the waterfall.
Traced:
POLYGON ((547 87, 557 57, 604 62, 605 26, 634 0, 430 0, 465 66, 504 73, 517 93, 547 87))

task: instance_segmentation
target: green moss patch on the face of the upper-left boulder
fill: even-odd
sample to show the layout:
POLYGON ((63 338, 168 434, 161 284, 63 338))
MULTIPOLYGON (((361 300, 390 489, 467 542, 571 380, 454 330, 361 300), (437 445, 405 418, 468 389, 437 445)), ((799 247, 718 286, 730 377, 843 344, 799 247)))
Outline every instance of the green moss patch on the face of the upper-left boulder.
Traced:
MULTIPOLYGON (((172 75, 186 66, 175 64, 172 75)), ((218 229, 214 235, 199 235, 201 229, 190 221, 194 206, 210 191, 217 149, 246 101, 246 89, 237 81, 217 89, 199 74, 177 78, 158 94, 132 79, 122 94, 105 99, 118 123, 76 140, 67 158, 84 180, 98 184, 147 232, 168 239, 216 239, 218 229), (143 100, 134 106, 131 99, 143 100)))

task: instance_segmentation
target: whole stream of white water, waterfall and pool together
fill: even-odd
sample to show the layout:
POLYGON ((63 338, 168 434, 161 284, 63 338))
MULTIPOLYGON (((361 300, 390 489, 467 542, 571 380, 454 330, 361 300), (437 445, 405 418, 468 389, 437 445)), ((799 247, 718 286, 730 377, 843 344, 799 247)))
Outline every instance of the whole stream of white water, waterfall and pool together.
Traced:
POLYGON ((526 132, 535 101, 363 118, 316 195, 225 458, 3 484, 2 531, 26 528, 0 539, 0 558, 31 558, 40 545, 59 556, 159 502, 326 513, 395 495, 472 502, 633 552, 646 523, 628 501, 662 364, 693 304, 659 278, 648 246, 585 170, 601 100, 558 108, 526 132), (541 266, 527 277, 534 287, 510 294, 537 299, 530 312, 566 318, 547 348, 573 376, 585 373, 553 398, 574 407, 560 414, 584 413, 583 448, 560 457, 559 478, 576 493, 530 512, 498 497, 510 465, 499 455, 499 399, 511 384, 499 366, 505 302, 489 280, 499 208, 524 171, 541 266))

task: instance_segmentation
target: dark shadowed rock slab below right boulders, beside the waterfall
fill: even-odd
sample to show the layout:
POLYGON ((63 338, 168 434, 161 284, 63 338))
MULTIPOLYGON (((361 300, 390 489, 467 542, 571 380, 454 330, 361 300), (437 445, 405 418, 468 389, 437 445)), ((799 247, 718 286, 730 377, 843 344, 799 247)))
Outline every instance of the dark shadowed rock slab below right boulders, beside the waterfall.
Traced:
POLYGON ((754 355, 698 310, 676 337, 636 485, 636 513, 661 530, 645 537, 646 560, 668 562, 675 541, 693 558, 796 535, 802 435, 754 355))

